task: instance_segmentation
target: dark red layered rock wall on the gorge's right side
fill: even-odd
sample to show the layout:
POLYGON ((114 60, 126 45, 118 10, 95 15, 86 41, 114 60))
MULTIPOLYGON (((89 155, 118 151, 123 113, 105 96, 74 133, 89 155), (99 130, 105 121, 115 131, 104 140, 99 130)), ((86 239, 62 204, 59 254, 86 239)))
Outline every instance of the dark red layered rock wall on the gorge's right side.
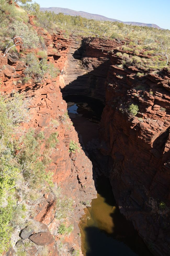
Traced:
POLYGON ((110 67, 101 150, 114 159, 110 181, 121 213, 133 222, 155 255, 170 255, 170 74, 164 69, 161 76, 150 72, 137 79, 134 72, 133 67, 110 67), (127 113, 130 103, 139 107, 135 117, 127 113), (165 209, 160 208, 162 201, 165 209))

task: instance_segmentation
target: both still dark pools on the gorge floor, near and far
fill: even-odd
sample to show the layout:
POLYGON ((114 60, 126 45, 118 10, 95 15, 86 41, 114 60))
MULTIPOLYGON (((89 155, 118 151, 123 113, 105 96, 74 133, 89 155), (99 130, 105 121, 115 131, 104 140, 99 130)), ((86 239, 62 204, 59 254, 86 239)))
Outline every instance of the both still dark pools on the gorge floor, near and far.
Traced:
MULTIPOLYGON (((89 135, 96 135, 104 106, 97 100, 82 96, 67 96, 65 100, 75 129, 79 135, 86 137, 86 141, 90 140, 93 136, 88 137, 86 129, 92 127, 89 135), (90 123, 93 123, 92 126, 90 123)), ((84 209, 85 214, 79 223, 83 255, 152 256, 132 223, 121 215, 109 179, 100 176, 95 185, 97 198, 92 200, 91 207, 84 209)))

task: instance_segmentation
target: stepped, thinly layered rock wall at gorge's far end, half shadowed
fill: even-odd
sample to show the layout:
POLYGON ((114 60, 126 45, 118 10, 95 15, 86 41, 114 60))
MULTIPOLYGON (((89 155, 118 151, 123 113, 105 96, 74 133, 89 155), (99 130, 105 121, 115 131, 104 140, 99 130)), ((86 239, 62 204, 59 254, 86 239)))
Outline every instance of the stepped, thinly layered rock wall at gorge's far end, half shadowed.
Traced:
POLYGON ((105 80, 109 70, 110 54, 116 47, 114 41, 96 38, 72 37, 64 66, 66 87, 63 96, 76 94, 105 102, 105 80), (94 46, 94 47, 93 47, 94 46))

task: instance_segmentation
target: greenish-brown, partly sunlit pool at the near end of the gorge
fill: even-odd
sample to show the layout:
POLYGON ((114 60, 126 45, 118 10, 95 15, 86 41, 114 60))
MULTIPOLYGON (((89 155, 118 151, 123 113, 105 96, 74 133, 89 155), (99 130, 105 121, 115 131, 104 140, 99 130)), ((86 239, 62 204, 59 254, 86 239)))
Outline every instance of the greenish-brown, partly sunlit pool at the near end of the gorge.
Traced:
POLYGON ((80 221, 84 256, 151 256, 142 239, 120 213, 110 182, 98 180, 97 198, 80 221))

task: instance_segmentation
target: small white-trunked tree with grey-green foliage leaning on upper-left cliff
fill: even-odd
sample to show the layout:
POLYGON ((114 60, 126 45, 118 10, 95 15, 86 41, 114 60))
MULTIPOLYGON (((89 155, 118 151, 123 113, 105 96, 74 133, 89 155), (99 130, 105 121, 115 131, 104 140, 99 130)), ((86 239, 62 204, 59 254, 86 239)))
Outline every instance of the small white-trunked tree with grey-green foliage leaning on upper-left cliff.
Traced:
POLYGON ((23 48, 35 48, 38 44, 39 38, 34 30, 19 21, 15 21, 9 29, 11 40, 8 41, 3 57, 14 46, 22 45, 23 48))

